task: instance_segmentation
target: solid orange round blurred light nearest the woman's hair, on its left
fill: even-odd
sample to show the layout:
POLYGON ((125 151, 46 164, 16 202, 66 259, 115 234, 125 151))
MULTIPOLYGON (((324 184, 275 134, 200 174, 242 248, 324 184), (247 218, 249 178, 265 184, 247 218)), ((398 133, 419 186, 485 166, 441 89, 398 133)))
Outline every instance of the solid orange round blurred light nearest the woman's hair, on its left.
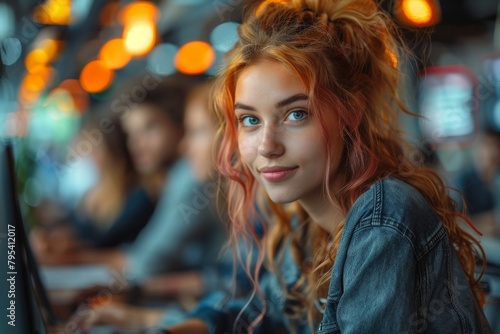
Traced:
POLYGON ((215 51, 210 44, 194 41, 184 44, 175 56, 175 67, 185 74, 200 74, 212 66, 215 51))

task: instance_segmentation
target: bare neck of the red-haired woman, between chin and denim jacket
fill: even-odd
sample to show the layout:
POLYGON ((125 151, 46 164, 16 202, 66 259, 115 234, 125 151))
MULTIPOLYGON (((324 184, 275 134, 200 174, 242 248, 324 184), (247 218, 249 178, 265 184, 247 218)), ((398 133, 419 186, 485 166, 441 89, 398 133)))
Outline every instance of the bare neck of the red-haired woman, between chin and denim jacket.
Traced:
POLYGON ((337 226, 345 219, 343 210, 324 196, 320 199, 303 199, 299 203, 307 212, 312 222, 318 224, 330 234, 334 234, 337 226))

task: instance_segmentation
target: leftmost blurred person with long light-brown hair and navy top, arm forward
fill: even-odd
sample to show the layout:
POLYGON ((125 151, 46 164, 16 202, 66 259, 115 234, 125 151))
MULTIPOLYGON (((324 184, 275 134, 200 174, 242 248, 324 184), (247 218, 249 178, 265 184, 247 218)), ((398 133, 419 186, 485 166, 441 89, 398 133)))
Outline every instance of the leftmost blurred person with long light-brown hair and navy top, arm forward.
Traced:
POLYGON ((39 252, 66 253, 130 243, 153 214, 155 203, 139 183, 118 118, 100 111, 92 113, 84 121, 75 146, 83 141, 90 147, 97 180, 77 207, 69 208, 66 224, 49 222, 45 231, 33 234, 39 252))

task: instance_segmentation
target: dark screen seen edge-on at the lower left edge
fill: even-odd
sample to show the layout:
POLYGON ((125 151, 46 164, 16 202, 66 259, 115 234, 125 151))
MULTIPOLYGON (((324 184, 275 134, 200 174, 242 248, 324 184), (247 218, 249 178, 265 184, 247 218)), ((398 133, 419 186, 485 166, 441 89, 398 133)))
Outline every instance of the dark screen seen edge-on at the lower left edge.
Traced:
POLYGON ((47 333, 42 313, 50 317, 51 310, 40 307, 47 300, 34 265, 17 201, 12 146, 0 141, 0 333, 47 333))

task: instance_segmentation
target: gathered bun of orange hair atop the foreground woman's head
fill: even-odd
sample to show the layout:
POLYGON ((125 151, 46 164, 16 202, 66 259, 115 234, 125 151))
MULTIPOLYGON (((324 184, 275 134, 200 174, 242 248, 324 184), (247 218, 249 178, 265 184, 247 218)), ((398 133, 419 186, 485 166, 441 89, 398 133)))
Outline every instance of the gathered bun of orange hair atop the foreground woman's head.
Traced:
POLYGON ((285 33, 296 45, 324 40, 353 68, 357 60, 365 63, 373 56, 397 66, 398 34, 374 0, 266 0, 255 14, 260 22, 256 27, 270 36, 285 33), (312 28, 312 39, 302 34, 307 26, 312 28))

